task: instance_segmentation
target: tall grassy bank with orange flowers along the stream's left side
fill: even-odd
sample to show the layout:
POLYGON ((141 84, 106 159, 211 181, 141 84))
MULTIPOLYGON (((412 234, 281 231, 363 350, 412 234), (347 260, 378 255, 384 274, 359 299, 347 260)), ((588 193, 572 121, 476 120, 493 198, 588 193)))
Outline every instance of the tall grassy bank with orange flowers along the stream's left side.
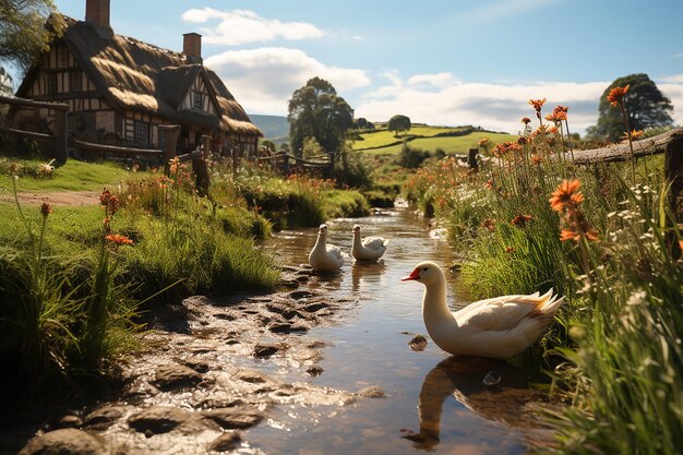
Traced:
POLYGON ((96 371, 129 347, 142 310, 169 300, 272 288, 279 272, 256 248, 268 232, 243 205, 199 197, 181 165, 99 206, 0 204, 0 385, 32 393, 96 371))

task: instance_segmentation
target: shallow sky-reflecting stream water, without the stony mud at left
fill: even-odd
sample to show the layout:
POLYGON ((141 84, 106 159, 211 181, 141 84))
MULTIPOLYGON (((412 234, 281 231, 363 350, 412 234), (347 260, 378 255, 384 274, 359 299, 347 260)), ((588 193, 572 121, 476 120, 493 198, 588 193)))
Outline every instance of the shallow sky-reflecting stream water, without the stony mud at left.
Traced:
MULTIPOLYGON (((249 431, 250 447, 242 451, 527 453, 529 444, 546 433, 522 411, 534 395, 524 373, 505 362, 463 361, 440 350, 422 323, 423 287, 400 282, 423 260, 447 266, 448 244, 430 235, 427 223, 405 208, 331 220, 328 242, 350 254, 356 223, 363 226, 363 237, 391 239, 388 249, 380 263, 361 264, 347 258, 339 273, 314 277, 308 284, 348 298, 349 311, 339 324, 309 333, 327 344, 320 362, 322 374, 291 379, 351 392, 379 386, 386 397, 362 398, 351 406, 279 407, 267 422, 249 431), (416 334, 429 340, 421 351, 409 347, 416 334), (490 371, 501 375, 498 386, 483 385, 490 371)), ((313 228, 283 231, 268 248, 284 265, 305 263, 316 232, 313 228)), ((466 304, 455 276, 447 277, 452 307, 466 304)))

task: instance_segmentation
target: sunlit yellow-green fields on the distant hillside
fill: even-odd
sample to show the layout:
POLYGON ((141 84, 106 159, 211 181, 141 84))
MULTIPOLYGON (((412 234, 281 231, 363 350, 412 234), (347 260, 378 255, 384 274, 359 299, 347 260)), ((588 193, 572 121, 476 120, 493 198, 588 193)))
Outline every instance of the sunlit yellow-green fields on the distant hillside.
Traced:
MULTIPOLYGON (((478 142, 482 137, 488 137, 493 144, 505 141, 515 141, 514 134, 492 133, 486 131, 474 131, 470 134, 462 136, 438 136, 440 133, 448 133, 463 131, 465 127, 445 128, 445 127, 417 127, 411 128, 405 135, 411 147, 422 148, 424 151, 435 151, 442 148, 446 153, 465 154, 469 148, 478 146, 478 142)), ((400 152, 403 147, 404 136, 396 137, 394 132, 378 131, 361 134, 362 141, 354 142, 354 149, 363 151, 369 155, 394 155, 400 152)))

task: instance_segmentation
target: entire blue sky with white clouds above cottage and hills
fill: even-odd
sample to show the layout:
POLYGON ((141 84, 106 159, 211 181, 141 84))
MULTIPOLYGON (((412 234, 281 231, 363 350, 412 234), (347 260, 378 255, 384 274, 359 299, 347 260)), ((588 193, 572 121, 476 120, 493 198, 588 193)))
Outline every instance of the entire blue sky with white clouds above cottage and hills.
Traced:
MULTIPOLYGON (((84 19, 85 0, 55 3, 84 19)), ((287 115, 317 75, 371 121, 512 133, 530 98, 568 106, 583 132, 604 88, 633 73, 683 125, 682 20, 681 0, 111 0, 117 34, 177 51, 202 34, 204 63, 249 113, 287 115)))

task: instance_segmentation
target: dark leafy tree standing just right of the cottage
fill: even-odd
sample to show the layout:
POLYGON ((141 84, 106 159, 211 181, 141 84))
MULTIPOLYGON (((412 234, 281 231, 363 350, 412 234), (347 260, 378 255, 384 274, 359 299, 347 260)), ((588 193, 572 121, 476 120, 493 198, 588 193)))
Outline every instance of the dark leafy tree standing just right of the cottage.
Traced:
POLYGON ((307 137, 314 137, 326 153, 338 154, 354 127, 354 110, 329 82, 313 77, 292 94, 287 121, 295 155, 301 156, 307 137))

